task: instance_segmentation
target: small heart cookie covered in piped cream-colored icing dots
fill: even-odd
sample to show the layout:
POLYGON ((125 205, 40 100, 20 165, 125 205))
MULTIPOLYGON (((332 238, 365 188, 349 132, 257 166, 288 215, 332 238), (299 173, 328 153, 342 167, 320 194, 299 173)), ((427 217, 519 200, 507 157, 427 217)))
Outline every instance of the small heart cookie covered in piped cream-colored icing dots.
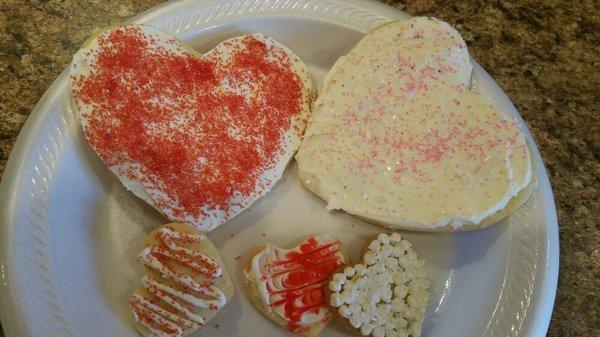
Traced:
POLYGON ((344 326, 363 336, 421 334, 429 282, 411 246, 398 233, 379 234, 359 264, 331 275, 326 299, 344 326))

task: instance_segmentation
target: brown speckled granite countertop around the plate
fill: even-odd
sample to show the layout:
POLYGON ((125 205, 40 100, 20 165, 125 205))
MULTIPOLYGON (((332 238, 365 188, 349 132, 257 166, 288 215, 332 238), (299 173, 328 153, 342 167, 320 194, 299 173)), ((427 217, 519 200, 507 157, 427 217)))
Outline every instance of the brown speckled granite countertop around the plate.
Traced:
MULTIPOLYGON (((0 174, 30 111, 84 39, 160 2, 0 4, 0 174)), ((600 336, 600 6, 595 0, 385 2, 454 24, 520 111, 550 174, 560 226, 548 336, 600 336)))

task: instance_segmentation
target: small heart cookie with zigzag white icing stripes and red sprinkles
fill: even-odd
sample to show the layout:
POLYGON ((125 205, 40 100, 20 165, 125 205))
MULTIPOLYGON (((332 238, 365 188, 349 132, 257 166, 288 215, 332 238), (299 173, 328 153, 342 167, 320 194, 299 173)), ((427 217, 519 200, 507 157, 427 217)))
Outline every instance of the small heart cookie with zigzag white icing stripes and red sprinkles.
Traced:
POLYGON ((140 261, 148 269, 129 299, 145 337, 182 337, 210 321, 234 287, 213 243, 188 225, 170 223, 146 239, 140 261))

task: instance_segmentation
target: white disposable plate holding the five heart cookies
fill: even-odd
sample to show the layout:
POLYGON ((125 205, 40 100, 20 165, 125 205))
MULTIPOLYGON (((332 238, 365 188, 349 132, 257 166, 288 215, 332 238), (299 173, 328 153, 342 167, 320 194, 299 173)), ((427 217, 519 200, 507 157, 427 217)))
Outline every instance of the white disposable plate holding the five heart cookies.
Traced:
MULTIPOLYGON (((320 83, 364 33, 406 17, 358 0, 247 0, 169 3, 133 21, 173 33, 199 51, 241 33, 264 32, 298 53, 320 83)), ((479 66, 474 78, 499 106, 518 116, 479 66)), ((69 90, 63 72, 31 113, 4 174, 2 324, 8 337, 133 337, 127 299, 143 273, 135 257, 146 233, 166 220, 128 193, 91 151, 67 107, 69 90)), ((528 132, 527 138, 535 144, 528 132)), ((535 146, 533 154, 537 188, 501 224, 462 234, 403 233, 427 260, 432 280, 423 336, 545 335, 558 276, 558 231, 535 146)), ((287 334, 242 293, 242 261, 253 247, 266 240, 286 246, 303 235, 332 232, 356 259, 365 238, 381 230, 325 211, 323 202, 300 187, 296 166, 290 165, 271 193, 210 233, 238 293, 195 336, 287 334)), ((322 333, 348 334, 335 322, 322 333)))

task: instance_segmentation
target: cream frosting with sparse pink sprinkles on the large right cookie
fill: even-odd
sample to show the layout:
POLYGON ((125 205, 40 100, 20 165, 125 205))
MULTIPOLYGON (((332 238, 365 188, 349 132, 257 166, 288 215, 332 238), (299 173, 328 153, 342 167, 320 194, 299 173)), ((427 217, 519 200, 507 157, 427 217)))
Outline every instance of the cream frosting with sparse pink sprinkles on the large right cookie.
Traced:
POLYGON ((331 69, 296 159, 302 182, 391 226, 478 224, 531 180, 516 121, 470 88, 467 46, 432 18, 390 23, 331 69))

